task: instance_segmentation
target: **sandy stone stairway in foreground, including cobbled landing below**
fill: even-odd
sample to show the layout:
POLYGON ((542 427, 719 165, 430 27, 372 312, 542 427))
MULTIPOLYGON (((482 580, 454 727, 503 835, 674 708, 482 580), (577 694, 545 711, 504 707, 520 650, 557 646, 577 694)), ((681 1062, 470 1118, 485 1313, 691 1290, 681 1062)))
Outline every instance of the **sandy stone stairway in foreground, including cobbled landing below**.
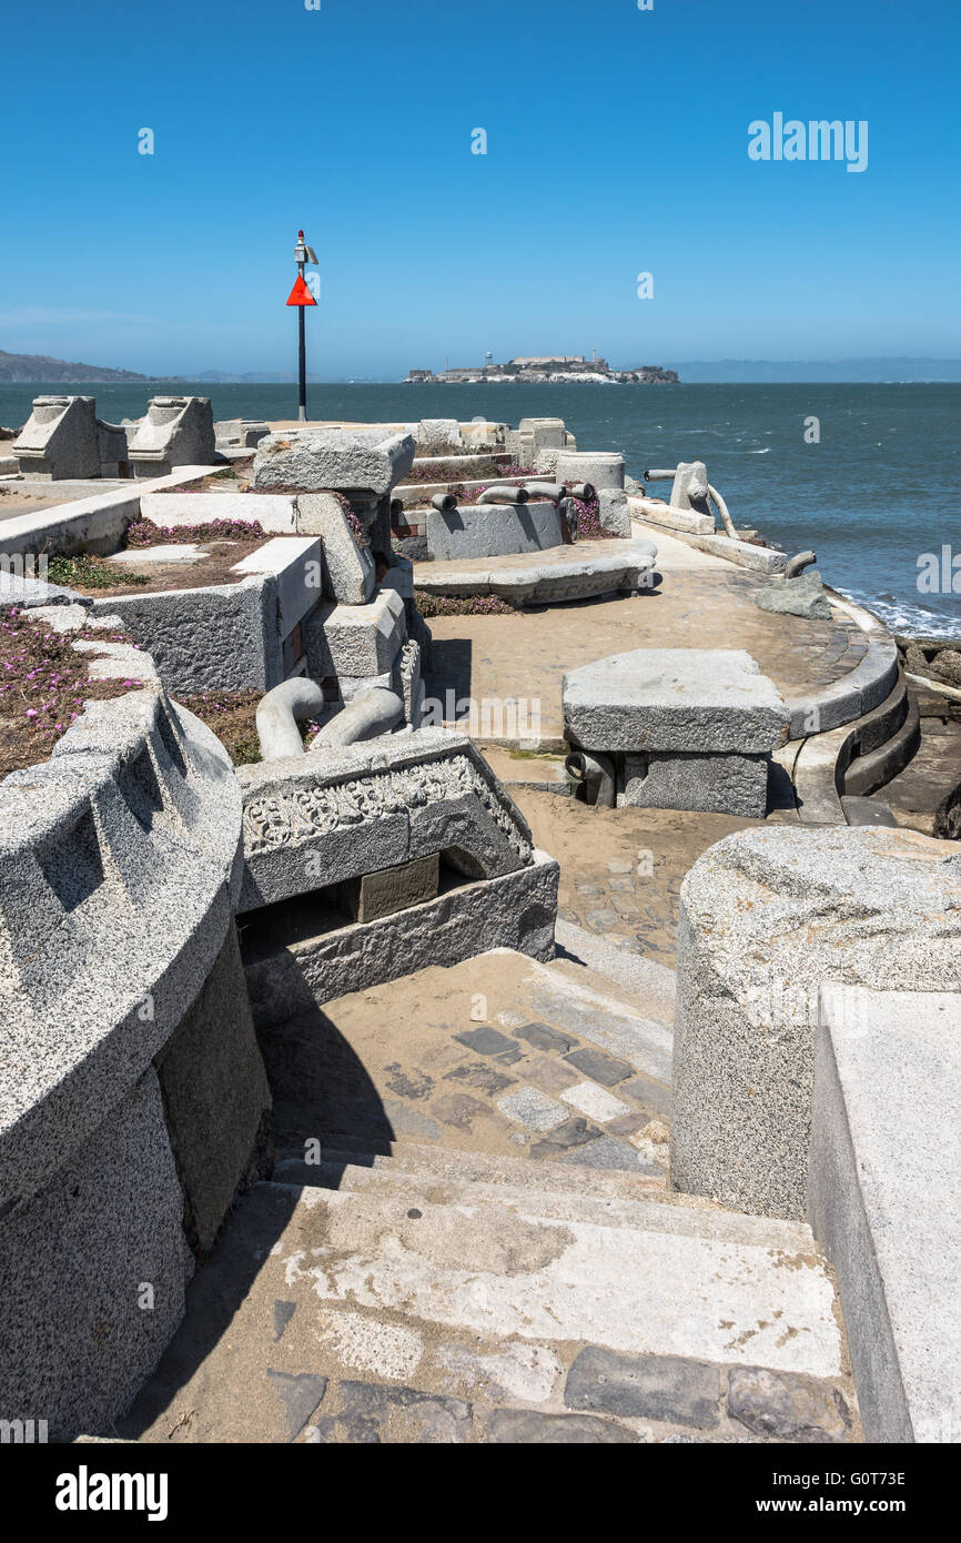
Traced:
POLYGON ((810 1228, 668 1188, 671 972, 560 937, 262 1034, 273 1179, 119 1433, 859 1438, 810 1228))

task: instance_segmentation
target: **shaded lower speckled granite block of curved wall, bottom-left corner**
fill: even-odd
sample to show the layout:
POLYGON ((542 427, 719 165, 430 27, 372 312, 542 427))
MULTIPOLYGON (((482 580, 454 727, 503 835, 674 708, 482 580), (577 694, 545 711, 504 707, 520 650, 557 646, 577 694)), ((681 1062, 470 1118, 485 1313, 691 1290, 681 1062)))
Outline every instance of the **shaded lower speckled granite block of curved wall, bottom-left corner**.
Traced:
POLYGON ((3 1219, 0 1418, 48 1420, 69 1441, 126 1409, 184 1316, 182 1211, 148 1068, 3 1219))

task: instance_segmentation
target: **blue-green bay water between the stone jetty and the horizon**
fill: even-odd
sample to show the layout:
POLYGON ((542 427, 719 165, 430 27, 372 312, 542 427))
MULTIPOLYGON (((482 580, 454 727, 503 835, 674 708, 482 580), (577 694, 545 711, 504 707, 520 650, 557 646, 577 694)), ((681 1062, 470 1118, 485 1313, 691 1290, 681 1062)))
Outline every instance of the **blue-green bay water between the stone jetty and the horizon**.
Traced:
MULTIPOLYGON (((0 384, 0 423, 19 426, 34 395, 62 389, 0 384)), ((293 384, 72 389, 114 423, 165 390, 210 397, 217 418, 296 417, 293 384)), ((309 386, 307 406, 352 421, 560 417, 582 449, 623 451, 639 478, 703 460, 737 525, 790 552, 813 548, 825 580, 893 630, 961 637, 961 384, 333 384, 309 386)))

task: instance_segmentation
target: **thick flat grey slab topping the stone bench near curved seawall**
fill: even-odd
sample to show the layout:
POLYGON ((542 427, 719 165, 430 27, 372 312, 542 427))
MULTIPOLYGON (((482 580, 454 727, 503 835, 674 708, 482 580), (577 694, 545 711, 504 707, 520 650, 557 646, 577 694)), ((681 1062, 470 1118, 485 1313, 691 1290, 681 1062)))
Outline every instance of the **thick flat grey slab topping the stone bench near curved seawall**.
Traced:
POLYGON ((765 755, 787 738, 773 680, 739 650, 639 648, 571 670, 568 736, 585 750, 765 755))

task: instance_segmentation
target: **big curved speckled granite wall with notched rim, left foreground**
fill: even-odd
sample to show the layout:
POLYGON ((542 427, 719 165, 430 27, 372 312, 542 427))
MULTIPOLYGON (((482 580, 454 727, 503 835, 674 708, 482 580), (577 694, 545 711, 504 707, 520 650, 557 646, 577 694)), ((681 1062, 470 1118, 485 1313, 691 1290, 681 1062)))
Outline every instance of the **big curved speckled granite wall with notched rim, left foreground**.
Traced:
MULTIPOLYGON (((91 673, 131 673, 125 645, 86 647, 108 656, 91 673)), ((136 659, 142 690, 88 702, 0 784, 0 1418, 60 1438, 159 1359, 270 1103, 233 923, 239 787, 136 659)))

